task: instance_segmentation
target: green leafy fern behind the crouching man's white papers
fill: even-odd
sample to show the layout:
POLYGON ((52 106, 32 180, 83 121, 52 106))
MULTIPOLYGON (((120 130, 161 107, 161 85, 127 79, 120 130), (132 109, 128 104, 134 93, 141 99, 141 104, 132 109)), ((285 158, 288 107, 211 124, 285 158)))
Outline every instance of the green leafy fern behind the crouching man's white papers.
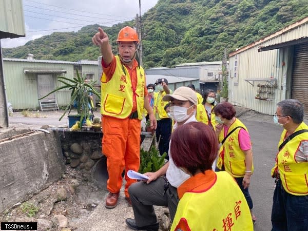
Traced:
POLYGON ((165 164, 165 157, 167 153, 164 152, 160 156, 159 151, 152 146, 149 151, 143 149, 140 150, 140 168, 139 172, 144 174, 145 172, 155 172, 165 164))

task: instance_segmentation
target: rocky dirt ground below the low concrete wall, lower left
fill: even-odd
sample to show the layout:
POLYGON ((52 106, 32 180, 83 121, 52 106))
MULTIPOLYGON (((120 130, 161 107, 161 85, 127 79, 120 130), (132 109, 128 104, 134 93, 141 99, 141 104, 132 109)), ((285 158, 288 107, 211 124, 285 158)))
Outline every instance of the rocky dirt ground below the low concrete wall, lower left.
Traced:
MULTIPOLYGON (((37 222, 37 230, 75 230, 79 223, 104 199, 106 190, 90 181, 89 174, 69 165, 61 179, 42 190, 30 200, 18 203, 0 215, 1 222, 37 222), (67 192, 59 200, 59 189, 67 192), (69 229, 62 229, 55 217, 64 215, 69 229)), ((61 196, 60 196, 61 197, 61 196)), ((64 219, 65 220, 65 219, 64 219)), ((64 227, 63 227, 64 228, 64 227)))

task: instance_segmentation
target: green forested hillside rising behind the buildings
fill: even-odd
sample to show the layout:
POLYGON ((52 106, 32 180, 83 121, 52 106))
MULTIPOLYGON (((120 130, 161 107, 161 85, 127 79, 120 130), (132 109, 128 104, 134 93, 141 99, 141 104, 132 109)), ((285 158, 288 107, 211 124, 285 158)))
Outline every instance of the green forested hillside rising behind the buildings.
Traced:
MULTIPOLYGON (((145 68, 186 62, 220 61, 223 50, 234 51, 308 16, 306 0, 159 0, 142 17, 145 68)), ((103 27, 114 52, 119 30, 135 22, 103 27)), ((78 32, 54 32, 25 46, 4 48, 5 57, 24 59, 97 60, 91 38, 99 25, 78 32)))

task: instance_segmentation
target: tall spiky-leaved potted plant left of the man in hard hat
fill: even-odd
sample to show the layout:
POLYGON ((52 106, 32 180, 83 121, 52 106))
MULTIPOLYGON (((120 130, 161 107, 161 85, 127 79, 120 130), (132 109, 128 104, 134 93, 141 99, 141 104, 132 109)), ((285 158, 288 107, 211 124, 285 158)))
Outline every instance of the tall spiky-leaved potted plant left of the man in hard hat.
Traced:
MULTIPOLYGON (((68 111, 68 114, 70 113, 72 108, 76 108, 77 114, 74 115, 68 115, 69 121, 70 119, 74 122, 80 121, 79 127, 82 128, 83 121, 90 119, 91 117, 91 111, 93 110, 94 105, 91 102, 91 94, 97 95, 99 99, 101 99, 101 95, 99 92, 97 92, 93 85, 95 81, 92 82, 85 82, 86 77, 81 77, 78 70, 76 70, 76 77, 73 77, 73 79, 66 78, 64 76, 57 76, 58 81, 63 83, 63 86, 57 87, 53 91, 49 92, 44 97, 38 99, 44 99, 48 95, 68 88, 71 90, 71 98, 69 104, 64 109, 63 114, 61 115, 59 121, 64 117, 65 113, 68 111)), ((74 123, 72 123, 74 124, 74 123)), ((71 123, 70 123, 71 125, 71 123)), ((71 126, 70 126, 71 127, 71 126)))

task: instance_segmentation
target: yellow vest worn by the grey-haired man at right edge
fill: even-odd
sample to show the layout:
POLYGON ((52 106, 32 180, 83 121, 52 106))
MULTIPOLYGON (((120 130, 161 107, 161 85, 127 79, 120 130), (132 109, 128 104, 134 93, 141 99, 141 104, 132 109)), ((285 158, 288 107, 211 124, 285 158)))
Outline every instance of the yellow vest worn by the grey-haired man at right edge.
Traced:
MULTIPOLYGON (((308 126, 302 122, 294 132, 308 129, 308 126)), ((282 131, 278 148, 284 141, 286 130, 282 131)), ((277 153, 274 171, 278 168, 280 180, 285 191, 295 196, 308 195, 308 162, 296 162, 295 153, 299 149, 302 141, 308 140, 308 132, 303 132, 288 141, 277 153)))

